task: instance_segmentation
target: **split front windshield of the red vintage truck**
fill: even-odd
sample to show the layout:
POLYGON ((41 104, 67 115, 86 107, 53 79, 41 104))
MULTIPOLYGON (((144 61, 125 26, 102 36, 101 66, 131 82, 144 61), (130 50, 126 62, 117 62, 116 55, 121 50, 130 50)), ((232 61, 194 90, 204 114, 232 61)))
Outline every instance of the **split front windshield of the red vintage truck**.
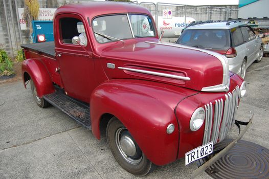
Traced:
POLYGON ((95 38, 99 43, 155 36, 152 20, 147 15, 128 14, 127 16, 127 14, 122 14, 101 16, 93 20, 92 26, 95 38))

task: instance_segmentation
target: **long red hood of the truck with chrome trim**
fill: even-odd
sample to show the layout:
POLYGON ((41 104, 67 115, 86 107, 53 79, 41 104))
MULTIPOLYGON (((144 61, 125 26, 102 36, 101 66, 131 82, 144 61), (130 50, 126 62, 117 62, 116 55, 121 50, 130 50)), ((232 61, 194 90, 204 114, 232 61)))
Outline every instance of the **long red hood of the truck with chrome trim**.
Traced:
POLYGON ((137 41, 106 48, 100 56, 109 79, 161 81, 196 91, 229 90, 228 60, 211 51, 174 43, 137 41))

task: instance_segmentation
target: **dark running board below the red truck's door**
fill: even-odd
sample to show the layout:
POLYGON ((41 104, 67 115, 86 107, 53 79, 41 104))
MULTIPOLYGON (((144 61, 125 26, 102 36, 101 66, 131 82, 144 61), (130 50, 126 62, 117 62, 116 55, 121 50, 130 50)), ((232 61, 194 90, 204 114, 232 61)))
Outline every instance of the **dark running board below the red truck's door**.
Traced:
POLYGON ((89 117, 89 105, 79 102, 60 91, 44 95, 43 98, 51 105, 57 107, 63 113, 74 119, 77 123, 91 129, 91 119, 89 117))

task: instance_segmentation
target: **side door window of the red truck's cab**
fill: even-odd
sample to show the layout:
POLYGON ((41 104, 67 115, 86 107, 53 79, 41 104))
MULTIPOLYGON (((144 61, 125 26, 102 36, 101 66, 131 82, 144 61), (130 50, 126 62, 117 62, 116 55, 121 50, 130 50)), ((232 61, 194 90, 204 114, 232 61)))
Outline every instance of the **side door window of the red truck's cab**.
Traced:
POLYGON ((85 28, 81 20, 72 17, 64 17, 60 19, 60 32, 62 43, 71 43, 72 38, 78 36, 82 46, 87 45, 87 37, 85 28))

